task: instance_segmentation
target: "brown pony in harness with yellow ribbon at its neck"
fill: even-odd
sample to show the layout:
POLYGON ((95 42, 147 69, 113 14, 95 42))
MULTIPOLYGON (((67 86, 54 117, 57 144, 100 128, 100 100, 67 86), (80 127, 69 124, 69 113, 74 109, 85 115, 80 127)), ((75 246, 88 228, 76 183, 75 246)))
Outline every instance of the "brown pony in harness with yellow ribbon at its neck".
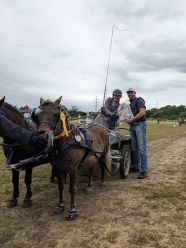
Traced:
MULTIPOLYGON (((53 155, 55 153, 56 172, 59 188, 59 203, 55 213, 64 211, 64 181, 66 174, 69 175, 69 192, 71 203, 67 214, 68 220, 76 216, 76 181, 77 169, 80 165, 89 168, 88 188, 92 187, 92 177, 95 165, 99 162, 101 167, 101 181, 104 181, 104 170, 110 170, 111 157, 109 136, 104 127, 97 125, 89 126, 85 131, 91 143, 91 147, 85 144, 85 135, 78 128, 66 131, 66 122, 61 120, 63 112, 60 110, 61 97, 55 102, 41 99, 40 106, 36 109, 33 119, 36 121, 38 131, 51 132, 54 135, 53 155), (65 132, 66 131, 66 132, 65 132)), ((90 144, 89 144, 90 145, 90 144)))

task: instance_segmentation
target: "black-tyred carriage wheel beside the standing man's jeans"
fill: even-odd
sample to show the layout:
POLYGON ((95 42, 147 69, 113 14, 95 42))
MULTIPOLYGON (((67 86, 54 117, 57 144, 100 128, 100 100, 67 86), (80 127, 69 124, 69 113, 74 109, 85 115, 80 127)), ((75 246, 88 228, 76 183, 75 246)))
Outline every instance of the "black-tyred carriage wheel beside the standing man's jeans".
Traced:
POLYGON ((131 165, 131 150, 129 145, 124 145, 122 150, 122 159, 120 161, 119 171, 122 179, 127 178, 131 165))

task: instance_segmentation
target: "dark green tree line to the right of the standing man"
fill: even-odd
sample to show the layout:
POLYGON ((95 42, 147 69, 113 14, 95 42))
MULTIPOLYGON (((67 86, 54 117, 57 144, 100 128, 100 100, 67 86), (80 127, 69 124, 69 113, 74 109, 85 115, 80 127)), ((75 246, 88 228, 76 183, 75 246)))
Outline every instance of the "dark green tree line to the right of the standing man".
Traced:
POLYGON ((176 120, 178 118, 186 118, 186 107, 184 105, 167 105, 162 108, 147 110, 146 114, 147 118, 176 120))

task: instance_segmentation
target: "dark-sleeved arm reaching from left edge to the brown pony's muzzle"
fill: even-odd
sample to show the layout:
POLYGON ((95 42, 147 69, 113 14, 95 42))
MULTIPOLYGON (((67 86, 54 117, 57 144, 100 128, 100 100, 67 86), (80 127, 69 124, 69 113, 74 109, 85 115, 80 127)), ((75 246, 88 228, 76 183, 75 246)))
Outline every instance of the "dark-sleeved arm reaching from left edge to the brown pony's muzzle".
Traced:
POLYGON ((38 134, 26 130, 0 114, 0 136, 8 138, 23 145, 33 145, 38 148, 45 148, 48 144, 46 134, 38 134))

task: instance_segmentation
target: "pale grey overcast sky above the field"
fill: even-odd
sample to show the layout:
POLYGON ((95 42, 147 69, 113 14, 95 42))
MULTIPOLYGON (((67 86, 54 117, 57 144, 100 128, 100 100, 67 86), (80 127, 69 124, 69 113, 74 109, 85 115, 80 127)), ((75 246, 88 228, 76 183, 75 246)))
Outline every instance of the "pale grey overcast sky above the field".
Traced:
POLYGON ((185 0, 0 0, 0 98, 94 110, 113 24, 107 96, 134 87, 147 108, 186 105, 185 0))

